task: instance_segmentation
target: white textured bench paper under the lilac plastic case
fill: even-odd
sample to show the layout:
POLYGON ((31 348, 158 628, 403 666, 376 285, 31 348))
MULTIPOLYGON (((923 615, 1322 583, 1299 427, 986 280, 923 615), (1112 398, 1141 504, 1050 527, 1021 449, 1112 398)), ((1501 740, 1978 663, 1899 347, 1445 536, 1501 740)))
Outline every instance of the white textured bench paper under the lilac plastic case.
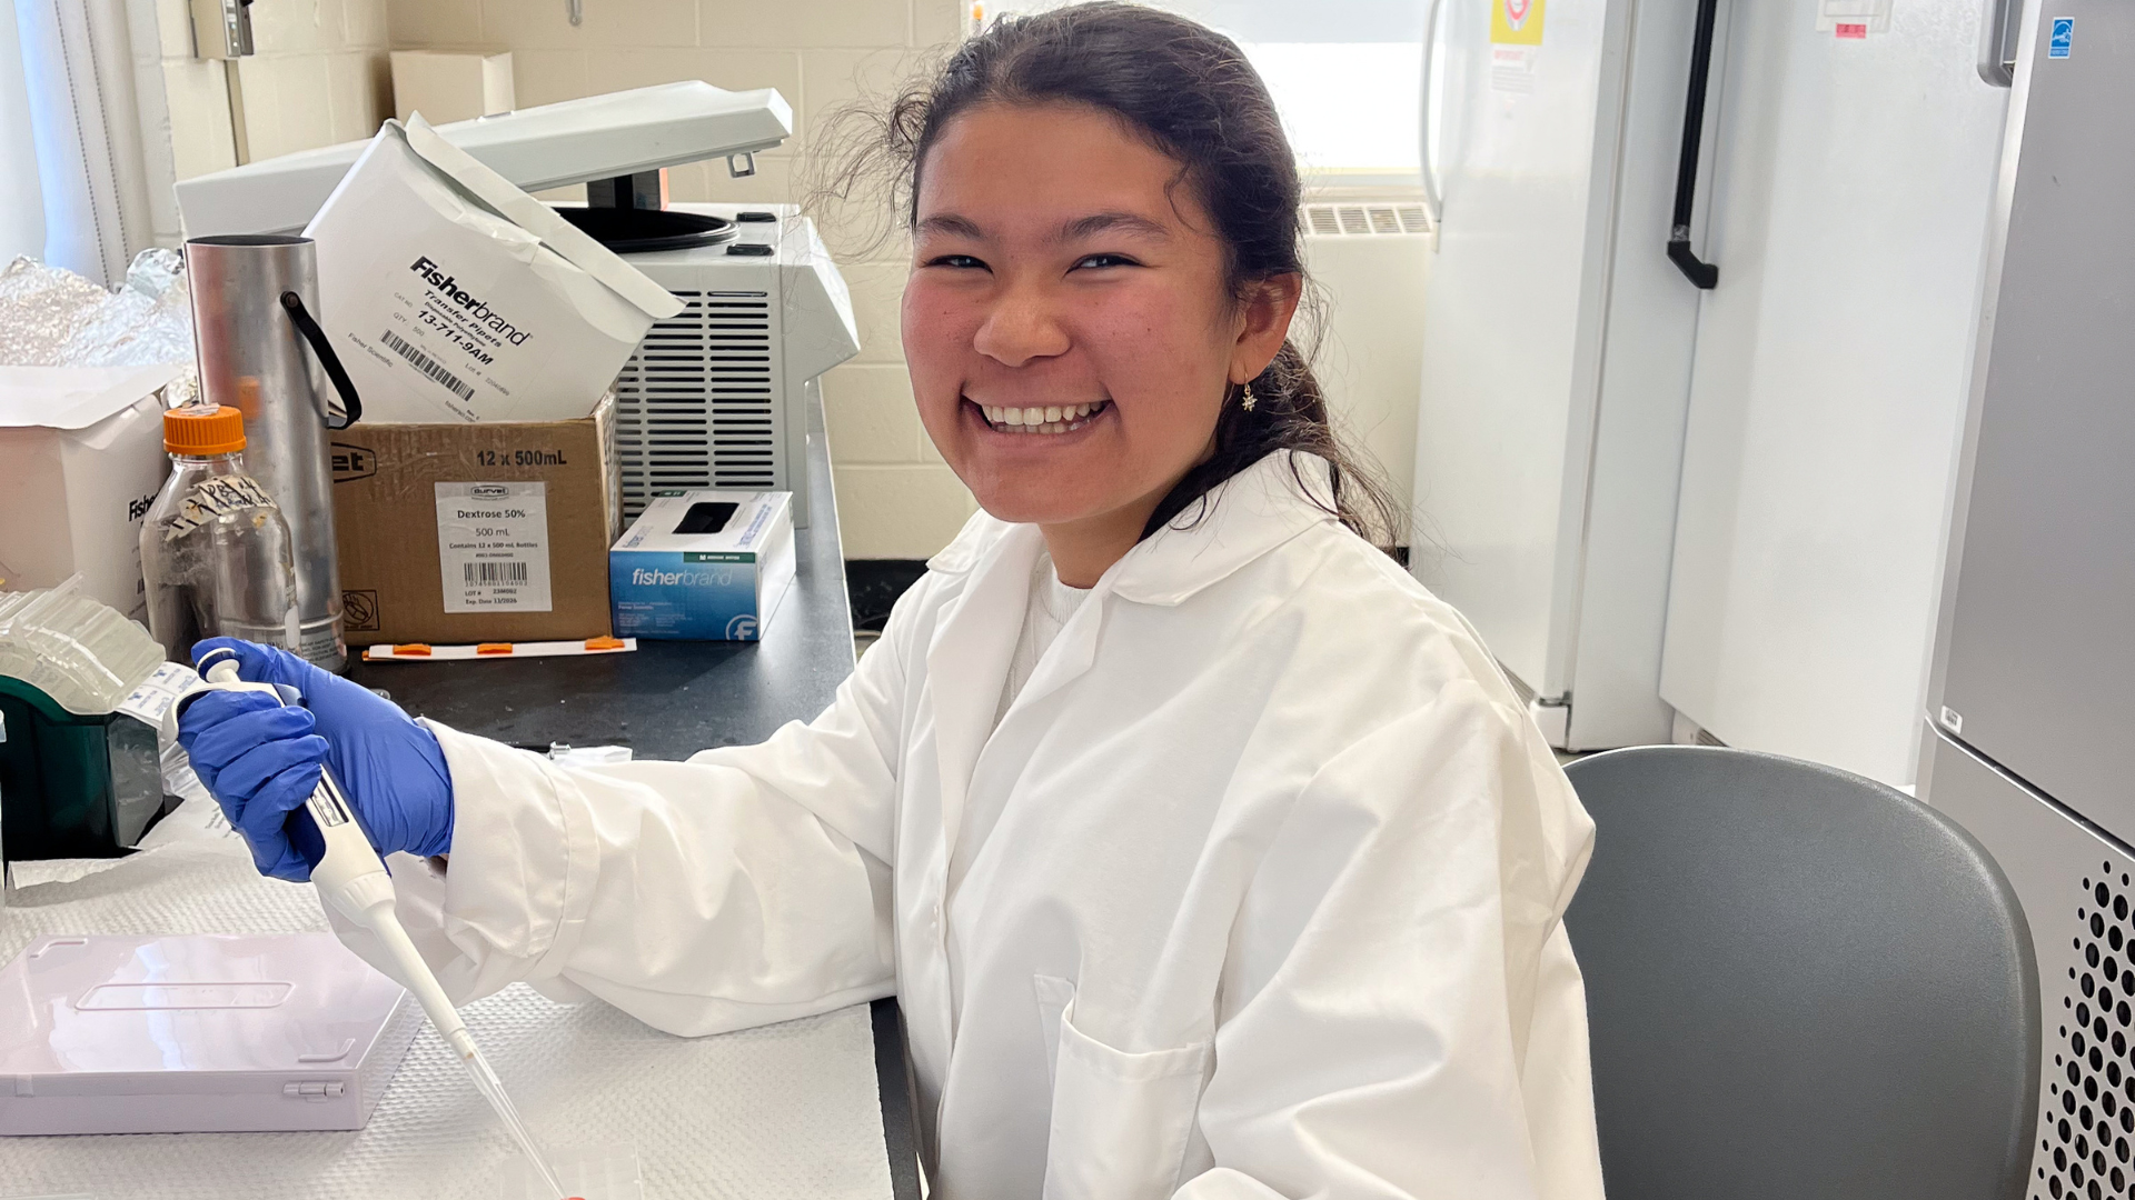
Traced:
MULTIPOLYGON (((0 961, 43 933, 327 929, 307 884, 213 843, 169 843, 96 875, 17 888, 0 961)), ((890 1196, 867 1006, 673 1038, 604 1004, 510 986, 461 1010, 536 1138, 638 1151, 645 1200, 890 1196)), ((352 1134, 0 1138, 0 1198, 493 1200, 515 1151, 433 1031, 352 1134)))

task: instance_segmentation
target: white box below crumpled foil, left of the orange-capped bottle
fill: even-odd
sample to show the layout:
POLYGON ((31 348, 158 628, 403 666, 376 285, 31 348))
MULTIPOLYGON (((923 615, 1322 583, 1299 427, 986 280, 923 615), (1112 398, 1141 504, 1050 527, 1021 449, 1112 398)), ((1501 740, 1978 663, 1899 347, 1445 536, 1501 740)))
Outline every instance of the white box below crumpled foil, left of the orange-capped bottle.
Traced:
POLYGON ((0 367, 0 589, 81 589, 145 621, 141 519, 171 459, 177 367, 0 367))

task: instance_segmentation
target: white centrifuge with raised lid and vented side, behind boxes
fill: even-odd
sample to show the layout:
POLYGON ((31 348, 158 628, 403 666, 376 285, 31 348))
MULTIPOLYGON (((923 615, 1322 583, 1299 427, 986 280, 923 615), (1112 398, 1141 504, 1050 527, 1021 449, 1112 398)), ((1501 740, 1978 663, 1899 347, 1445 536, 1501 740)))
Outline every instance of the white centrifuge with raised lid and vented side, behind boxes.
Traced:
MULTIPOLYGON (((615 459, 623 517, 655 491, 792 491, 807 527, 807 410, 818 380, 860 352, 852 297, 796 205, 666 203, 660 171, 724 158, 737 177, 792 135, 775 90, 662 83, 438 126, 515 186, 587 184, 589 205, 557 205, 589 235, 683 301, 653 325, 615 380, 615 459), (591 211, 587 211, 591 209, 591 211), (604 214, 602 209, 608 209, 604 214), (660 226, 705 237, 660 237, 660 226)), ((367 141, 303 149, 177 184, 188 237, 297 233, 367 141)))

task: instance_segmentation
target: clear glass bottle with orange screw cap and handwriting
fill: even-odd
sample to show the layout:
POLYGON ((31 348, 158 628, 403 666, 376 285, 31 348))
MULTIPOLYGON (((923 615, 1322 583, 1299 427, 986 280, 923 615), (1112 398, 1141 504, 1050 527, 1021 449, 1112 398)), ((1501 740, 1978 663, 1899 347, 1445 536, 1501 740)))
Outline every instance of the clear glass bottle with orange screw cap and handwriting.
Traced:
POLYGON ((192 643, 246 638, 295 651, 297 570, 288 521, 246 474, 246 419, 199 404, 162 414, 171 478, 141 523, 147 628, 173 662, 192 643))

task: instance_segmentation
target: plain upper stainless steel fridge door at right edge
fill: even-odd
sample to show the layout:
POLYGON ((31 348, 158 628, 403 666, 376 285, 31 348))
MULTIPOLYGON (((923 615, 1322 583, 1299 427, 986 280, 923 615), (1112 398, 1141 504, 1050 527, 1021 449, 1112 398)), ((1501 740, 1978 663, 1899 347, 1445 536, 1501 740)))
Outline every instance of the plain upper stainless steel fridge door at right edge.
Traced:
POLYGON ((2135 9, 2033 9, 2007 235, 1928 711, 2003 771, 2135 837, 2135 9), (2067 58, 2050 30, 2073 19, 2067 58))

